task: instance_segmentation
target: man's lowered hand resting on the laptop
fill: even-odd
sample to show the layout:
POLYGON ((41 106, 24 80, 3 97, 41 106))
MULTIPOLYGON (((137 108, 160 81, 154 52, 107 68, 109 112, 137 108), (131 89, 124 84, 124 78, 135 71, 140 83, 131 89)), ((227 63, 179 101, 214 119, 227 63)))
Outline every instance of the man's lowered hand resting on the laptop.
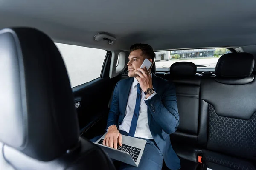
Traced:
POLYGON ((103 145, 117 149, 117 142, 119 146, 122 146, 122 135, 117 130, 116 126, 111 126, 108 128, 108 133, 103 140, 103 145))

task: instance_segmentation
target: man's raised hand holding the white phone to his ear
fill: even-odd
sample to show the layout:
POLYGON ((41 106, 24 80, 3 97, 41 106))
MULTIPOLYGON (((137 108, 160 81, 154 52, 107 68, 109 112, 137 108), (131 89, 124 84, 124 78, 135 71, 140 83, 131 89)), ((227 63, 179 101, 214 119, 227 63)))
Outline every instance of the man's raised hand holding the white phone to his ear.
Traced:
POLYGON ((146 67, 138 68, 138 71, 135 73, 138 75, 136 79, 140 83, 140 88, 143 90, 143 92, 148 88, 153 88, 152 77, 146 67))

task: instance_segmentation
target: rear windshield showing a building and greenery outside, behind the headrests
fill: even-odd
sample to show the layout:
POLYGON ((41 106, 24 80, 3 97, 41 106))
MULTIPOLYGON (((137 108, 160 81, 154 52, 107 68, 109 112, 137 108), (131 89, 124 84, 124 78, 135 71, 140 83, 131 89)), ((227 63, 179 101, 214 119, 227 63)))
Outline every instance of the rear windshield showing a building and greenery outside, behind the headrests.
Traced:
POLYGON ((201 68, 215 68, 218 59, 226 53, 230 53, 226 48, 157 51, 155 63, 156 68, 169 68, 180 61, 193 62, 201 68))

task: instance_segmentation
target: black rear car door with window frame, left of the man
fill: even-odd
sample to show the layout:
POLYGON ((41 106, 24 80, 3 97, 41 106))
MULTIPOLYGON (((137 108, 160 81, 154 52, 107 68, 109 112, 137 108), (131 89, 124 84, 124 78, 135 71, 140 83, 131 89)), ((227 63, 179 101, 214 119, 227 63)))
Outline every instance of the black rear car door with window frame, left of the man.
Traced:
POLYGON ((72 88, 80 135, 88 139, 104 133, 111 93, 117 81, 121 79, 121 75, 109 78, 110 61, 111 52, 107 51, 101 77, 72 88))

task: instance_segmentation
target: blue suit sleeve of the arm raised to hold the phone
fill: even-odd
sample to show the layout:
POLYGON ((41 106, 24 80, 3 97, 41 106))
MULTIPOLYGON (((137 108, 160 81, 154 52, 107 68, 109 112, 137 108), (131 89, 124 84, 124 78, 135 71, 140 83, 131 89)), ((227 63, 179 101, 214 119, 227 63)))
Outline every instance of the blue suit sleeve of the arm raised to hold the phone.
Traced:
POLYGON ((152 117, 158 125, 167 133, 171 134, 177 130, 179 125, 179 113, 175 86, 167 83, 161 99, 159 94, 155 94, 151 99, 145 100, 152 117))

